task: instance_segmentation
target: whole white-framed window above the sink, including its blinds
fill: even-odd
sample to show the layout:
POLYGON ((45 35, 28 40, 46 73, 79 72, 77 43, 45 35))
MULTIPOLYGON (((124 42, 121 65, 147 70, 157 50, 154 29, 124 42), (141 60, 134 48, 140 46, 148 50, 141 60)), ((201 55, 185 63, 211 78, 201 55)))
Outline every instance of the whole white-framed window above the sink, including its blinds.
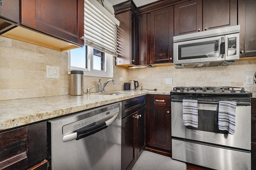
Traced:
POLYGON ((68 53, 68 72, 113 78, 116 53, 116 25, 119 21, 97 0, 84 0, 84 44, 68 53))

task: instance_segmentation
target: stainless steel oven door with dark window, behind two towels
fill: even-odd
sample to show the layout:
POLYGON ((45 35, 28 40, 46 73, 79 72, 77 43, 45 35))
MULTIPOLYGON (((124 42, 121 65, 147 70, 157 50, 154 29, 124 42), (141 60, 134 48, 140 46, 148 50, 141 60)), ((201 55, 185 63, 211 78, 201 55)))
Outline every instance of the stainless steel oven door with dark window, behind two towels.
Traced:
POLYGON ((181 102, 172 103, 172 138, 182 138, 251 150, 251 106, 236 106, 234 135, 218 130, 215 114, 218 102, 198 101, 198 128, 185 126, 181 102))

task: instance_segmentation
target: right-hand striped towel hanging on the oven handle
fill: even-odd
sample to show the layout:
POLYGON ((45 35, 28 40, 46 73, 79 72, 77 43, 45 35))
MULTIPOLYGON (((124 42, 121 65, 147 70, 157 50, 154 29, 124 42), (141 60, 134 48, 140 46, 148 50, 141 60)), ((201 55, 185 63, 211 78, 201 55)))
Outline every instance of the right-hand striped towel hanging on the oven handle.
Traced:
POLYGON ((218 127, 220 130, 228 131, 228 133, 234 135, 236 127, 236 102, 219 102, 218 127))

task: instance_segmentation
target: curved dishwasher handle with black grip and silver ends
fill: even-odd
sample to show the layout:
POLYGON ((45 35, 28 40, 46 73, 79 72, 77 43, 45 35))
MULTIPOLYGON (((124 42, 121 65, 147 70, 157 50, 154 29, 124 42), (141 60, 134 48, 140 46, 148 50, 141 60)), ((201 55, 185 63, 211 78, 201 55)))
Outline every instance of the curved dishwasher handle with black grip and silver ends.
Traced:
POLYGON ((63 142, 68 142, 68 141, 72 141, 74 139, 79 140, 79 139, 82 139, 84 137, 88 137, 90 135, 93 135, 94 133, 97 133, 97 132, 99 132, 103 129, 106 129, 111 123, 113 123, 117 119, 117 117, 118 117, 118 113, 116 113, 116 115, 114 115, 113 117, 111 117, 107 121, 104 121, 104 122, 99 123, 97 125, 77 129, 73 133, 64 135, 62 141, 63 142))

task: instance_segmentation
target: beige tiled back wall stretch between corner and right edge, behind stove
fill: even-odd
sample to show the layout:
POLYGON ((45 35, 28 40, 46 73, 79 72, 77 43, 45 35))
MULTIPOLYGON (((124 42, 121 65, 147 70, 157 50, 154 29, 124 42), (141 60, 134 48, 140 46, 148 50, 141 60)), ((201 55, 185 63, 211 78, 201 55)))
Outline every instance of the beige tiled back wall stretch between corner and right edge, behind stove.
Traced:
MULTIPOLYGON (((172 90, 176 86, 236 86, 256 92, 256 84, 246 84, 246 76, 254 76, 256 61, 237 61, 229 66, 174 68, 174 66, 129 69, 129 78, 143 88, 172 90), (166 78, 173 84, 166 85, 166 78)), ((254 78, 255 80, 255 78, 254 78)))

